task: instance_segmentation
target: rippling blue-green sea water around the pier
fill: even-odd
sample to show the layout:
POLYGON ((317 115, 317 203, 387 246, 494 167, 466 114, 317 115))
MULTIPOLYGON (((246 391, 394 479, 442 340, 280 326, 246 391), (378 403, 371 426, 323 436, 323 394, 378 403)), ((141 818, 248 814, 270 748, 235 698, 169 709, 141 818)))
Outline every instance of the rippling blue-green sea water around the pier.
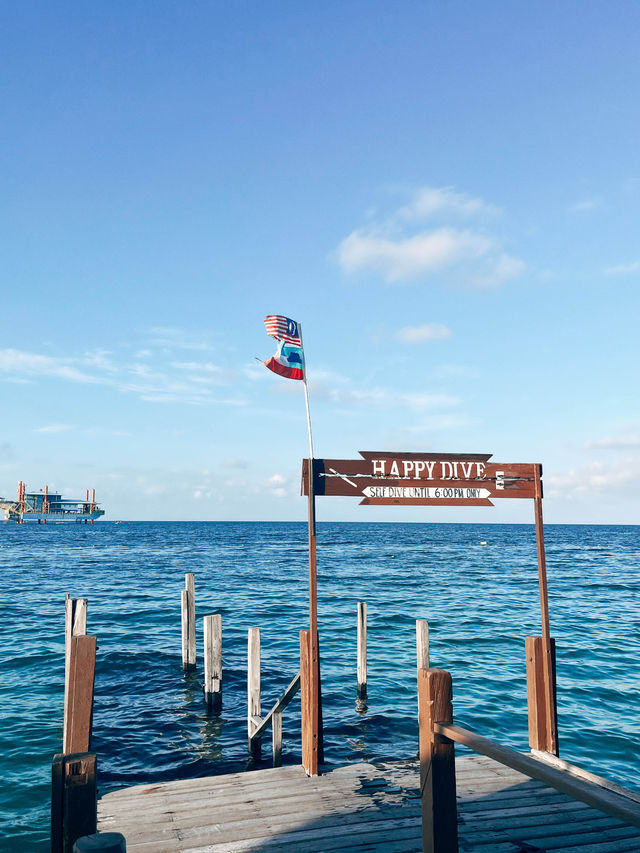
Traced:
MULTIPOLYGON (((560 752, 640 788, 640 527, 545 527, 560 752)), ((0 526, 0 849, 49 849, 61 749, 64 597, 98 637, 101 793, 247 766, 247 631, 261 628, 263 710, 295 675, 308 623, 299 523, 0 526), (195 574, 198 668, 181 668, 180 592, 195 574), (202 620, 223 619, 223 708, 202 699, 202 620)), ((318 525, 325 758, 417 753, 415 620, 451 671, 456 722, 528 748, 524 638, 540 633, 530 525, 318 525), (481 545, 486 541, 486 546, 481 545), (368 606, 368 698, 356 699, 356 605, 368 606)), ((284 761, 300 760, 299 703, 284 761)), ((269 742, 263 749, 269 766, 269 742)))

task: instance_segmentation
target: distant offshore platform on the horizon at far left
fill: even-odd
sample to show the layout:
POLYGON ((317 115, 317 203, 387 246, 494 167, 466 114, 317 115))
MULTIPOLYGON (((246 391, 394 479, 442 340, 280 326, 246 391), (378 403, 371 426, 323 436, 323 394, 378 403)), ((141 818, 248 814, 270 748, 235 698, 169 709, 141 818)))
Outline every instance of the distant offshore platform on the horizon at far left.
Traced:
POLYGON ((104 510, 96 503, 95 489, 91 489, 91 495, 87 489, 84 499, 63 498, 58 492, 50 492, 48 486, 39 492, 28 492, 26 483, 20 480, 17 500, 0 498, 0 521, 5 522, 93 524, 102 515, 104 510))

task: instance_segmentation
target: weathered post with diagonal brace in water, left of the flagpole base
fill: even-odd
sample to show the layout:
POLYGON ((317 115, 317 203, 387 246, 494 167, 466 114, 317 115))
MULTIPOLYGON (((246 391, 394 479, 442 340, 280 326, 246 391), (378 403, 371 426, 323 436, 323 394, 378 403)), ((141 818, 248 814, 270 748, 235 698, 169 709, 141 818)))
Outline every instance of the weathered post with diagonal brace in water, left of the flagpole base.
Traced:
POLYGON ((249 628, 247 666, 247 729, 249 752, 260 758, 262 736, 271 727, 273 766, 282 765, 282 713, 300 690, 300 672, 283 691, 269 713, 261 716, 260 697, 260 629, 249 628))

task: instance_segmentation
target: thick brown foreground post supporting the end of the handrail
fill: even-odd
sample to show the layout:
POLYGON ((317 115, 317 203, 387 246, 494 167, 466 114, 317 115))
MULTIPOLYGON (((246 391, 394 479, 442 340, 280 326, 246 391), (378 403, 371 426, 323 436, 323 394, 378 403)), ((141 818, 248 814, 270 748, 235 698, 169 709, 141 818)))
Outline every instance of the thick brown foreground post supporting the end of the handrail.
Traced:
POLYGON ((435 723, 452 723, 451 675, 418 670, 420 795, 423 853, 458 853, 454 744, 436 734, 435 723))

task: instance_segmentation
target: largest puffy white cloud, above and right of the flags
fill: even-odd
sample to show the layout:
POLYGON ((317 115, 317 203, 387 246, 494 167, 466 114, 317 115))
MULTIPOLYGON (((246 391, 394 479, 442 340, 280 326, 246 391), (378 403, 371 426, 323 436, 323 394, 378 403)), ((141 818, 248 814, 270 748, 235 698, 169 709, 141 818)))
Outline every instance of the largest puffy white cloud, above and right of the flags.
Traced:
POLYGON ((489 287, 520 275, 524 262, 478 224, 498 211, 451 187, 422 187, 386 219, 357 228, 336 250, 347 275, 373 272, 389 283, 457 271, 469 284, 489 287), (460 221, 474 221, 460 227, 460 221))

